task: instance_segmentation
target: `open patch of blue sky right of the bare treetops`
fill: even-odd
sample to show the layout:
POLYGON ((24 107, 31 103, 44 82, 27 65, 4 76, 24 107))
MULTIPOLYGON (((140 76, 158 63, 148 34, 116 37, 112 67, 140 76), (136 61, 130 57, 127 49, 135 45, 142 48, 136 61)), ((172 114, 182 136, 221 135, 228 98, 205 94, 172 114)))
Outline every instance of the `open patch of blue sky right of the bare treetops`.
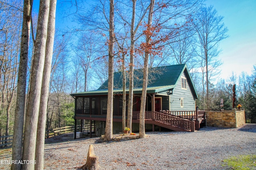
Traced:
POLYGON ((232 71, 237 76, 242 71, 251 75, 256 64, 256 0, 207 0, 206 4, 224 16, 229 30, 229 37, 220 42, 220 77, 228 78, 232 71))

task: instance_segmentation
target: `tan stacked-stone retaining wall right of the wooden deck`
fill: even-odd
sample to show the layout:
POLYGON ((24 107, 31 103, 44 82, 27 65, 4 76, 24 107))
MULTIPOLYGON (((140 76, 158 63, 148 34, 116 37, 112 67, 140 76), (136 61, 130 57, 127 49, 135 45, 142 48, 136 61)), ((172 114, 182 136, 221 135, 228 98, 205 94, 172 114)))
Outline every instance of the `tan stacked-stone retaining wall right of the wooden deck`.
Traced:
POLYGON ((245 124, 244 110, 206 111, 207 126, 236 128, 245 124))

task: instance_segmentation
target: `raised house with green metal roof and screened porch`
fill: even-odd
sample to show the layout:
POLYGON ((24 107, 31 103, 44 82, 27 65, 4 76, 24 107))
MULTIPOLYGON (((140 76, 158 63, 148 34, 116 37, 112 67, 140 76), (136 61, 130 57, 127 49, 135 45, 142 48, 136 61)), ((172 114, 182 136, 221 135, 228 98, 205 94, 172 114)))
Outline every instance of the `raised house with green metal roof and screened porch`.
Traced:
MULTIPOLYGON (((150 115, 149 117, 145 117, 146 129, 154 131, 160 127, 164 127, 172 130, 180 130, 179 127, 162 125, 153 120, 152 117, 154 117, 153 114, 158 113, 169 115, 182 113, 182 115, 189 114, 191 119, 191 115, 195 114, 195 112, 192 111, 196 110, 195 100, 198 98, 198 95, 186 64, 149 68, 148 72, 145 110, 152 114, 146 114, 150 115)), ((140 111, 140 99, 142 94, 142 78, 142 70, 134 70, 133 131, 136 131, 136 123, 139 123, 138 113, 140 111)), ((128 80, 129 78, 126 80, 126 99, 128 99, 129 92, 128 80)), ((122 131, 122 96, 124 95, 122 86, 122 72, 115 72, 113 133, 122 131)), ((91 126, 93 122, 96 135, 104 134, 107 114, 107 95, 108 80, 104 82, 98 90, 71 94, 71 96, 75 98, 75 124, 77 124, 79 120, 81 120, 80 122, 83 122, 82 120, 89 120, 91 126)))

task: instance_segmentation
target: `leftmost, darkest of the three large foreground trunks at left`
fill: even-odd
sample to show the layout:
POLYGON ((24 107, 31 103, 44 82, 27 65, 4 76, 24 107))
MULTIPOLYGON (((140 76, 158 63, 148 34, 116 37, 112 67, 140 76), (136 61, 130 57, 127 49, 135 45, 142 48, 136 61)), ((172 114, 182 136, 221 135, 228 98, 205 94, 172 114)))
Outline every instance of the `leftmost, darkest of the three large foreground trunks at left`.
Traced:
MULTIPOLYGON (((22 37, 20 45, 20 65, 18 72, 17 99, 12 138, 12 160, 22 160, 22 138, 24 110, 26 100, 26 76, 28 66, 28 48, 33 0, 24 0, 22 37)), ((20 170, 21 164, 12 164, 11 170, 20 170)))

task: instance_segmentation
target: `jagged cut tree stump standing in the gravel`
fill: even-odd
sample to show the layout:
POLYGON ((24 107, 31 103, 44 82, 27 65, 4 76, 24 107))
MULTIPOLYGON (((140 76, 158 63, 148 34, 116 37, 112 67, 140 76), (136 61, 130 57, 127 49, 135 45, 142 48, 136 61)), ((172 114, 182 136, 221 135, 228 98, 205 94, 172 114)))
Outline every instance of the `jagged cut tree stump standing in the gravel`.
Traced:
POLYGON ((93 145, 89 146, 86 164, 80 167, 82 170, 99 170, 99 158, 94 155, 93 145))

